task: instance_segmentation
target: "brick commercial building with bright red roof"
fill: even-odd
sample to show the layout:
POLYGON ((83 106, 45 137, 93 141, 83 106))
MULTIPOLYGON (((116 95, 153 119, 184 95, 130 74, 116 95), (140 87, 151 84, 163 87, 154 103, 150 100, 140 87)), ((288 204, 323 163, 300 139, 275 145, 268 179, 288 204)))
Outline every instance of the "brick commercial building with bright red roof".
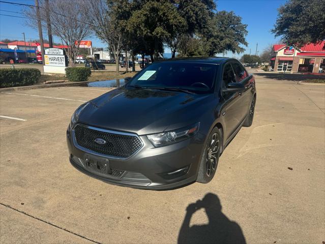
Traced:
POLYGON ((323 73, 325 71, 325 41, 301 48, 277 44, 273 46, 271 66, 274 71, 323 73))

